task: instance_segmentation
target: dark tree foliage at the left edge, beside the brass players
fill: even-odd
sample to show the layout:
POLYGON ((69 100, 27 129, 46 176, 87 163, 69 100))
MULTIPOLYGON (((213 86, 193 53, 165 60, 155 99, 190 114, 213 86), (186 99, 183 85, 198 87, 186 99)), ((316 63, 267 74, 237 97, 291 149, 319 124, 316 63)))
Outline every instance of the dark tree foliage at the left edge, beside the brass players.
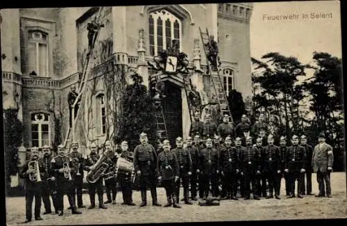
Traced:
POLYGON ((3 110, 3 141, 5 150, 5 181, 9 191, 12 175, 18 172, 18 149, 22 144, 23 124, 18 119, 18 109, 3 110))

